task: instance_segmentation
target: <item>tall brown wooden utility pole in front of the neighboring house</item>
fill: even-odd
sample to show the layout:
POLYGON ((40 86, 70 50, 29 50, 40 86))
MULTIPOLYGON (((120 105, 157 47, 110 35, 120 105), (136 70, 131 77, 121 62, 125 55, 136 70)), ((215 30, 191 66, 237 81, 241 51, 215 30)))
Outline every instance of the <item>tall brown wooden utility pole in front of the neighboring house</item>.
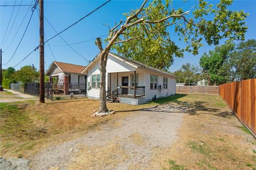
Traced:
POLYGON ((44 0, 39 0, 39 102, 44 103, 44 0))

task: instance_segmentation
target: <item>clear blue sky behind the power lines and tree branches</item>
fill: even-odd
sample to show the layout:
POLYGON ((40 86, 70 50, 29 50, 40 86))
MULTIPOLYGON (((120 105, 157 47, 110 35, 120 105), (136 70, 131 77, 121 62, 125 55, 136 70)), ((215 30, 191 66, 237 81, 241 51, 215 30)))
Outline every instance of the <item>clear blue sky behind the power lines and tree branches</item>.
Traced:
MULTIPOLYGON (((34 1, 34 0, 33 0, 34 1)), ((13 5, 15 1, 2 1, 1 5, 13 5)), ((31 4, 32 1, 23 1, 22 4, 31 4)), ((106 1, 47 1, 44 3, 44 14, 46 18, 50 21, 53 27, 59 32, 70 24, 74 23, 78 19, 82 18, 87 13, 94 10, 102 3, 106 1)), ((219 1, 211 1, 210 3, 216 4, 219 1)), ((20 4, 21 1, 17 0, 16 4, 20 4)), ((103 24, 108 24, 111 26, 115 22, 119 22, 121 19, 124 19, 123 13, 129 12, 131 9, 140 7, 142 1, 111 1, 107 5, 103 6, 97 12, 93 13, 89 17, 85 18, 83 21, 76 24, 74 27, 63 32, 61 36, 69 43, 77 43, 80 41, 85 41, 89 39, 94 39, 96 37, 106 35, 108 33, 108 28, 103 24)), ((183 1, 173 1, 173 6, 182 4, 183 1)), ((178 7, 183 7, 184 10, 189 10, 196 1, 189 1, 185 4, 182 4, 178 7)), ((34 2, 33 2, 34 4, 34 2)), ((0 7, 0 41, 3 40, 4 34, 9 22, 11 12, 13 7, 0 7)), ((19 7, 15 7, 13 11, 13 16, 9 24, 9 29, 6 32, 6 36, 9 34, 11 25, 14 20, 14 16, 17 14, 19 7)), ((24 18, 28 6, 21 6, 17 18, 13 24, 12 30, 9 37, 7 38, 5 44, 0 46, 3 53, 3 64, 5 64, 11 58, 14 53, 15 48, 18 46, 19 40, 22 37, 22 34, 26 28, 26 25, 31 15, 31 10, 29 10, 23 24, 17 36, 11 43, 12 38, 15 35, 15 32, 18 30, 19 25, 24 18), (7 49, 6 49, 7 48, 7 49)), ((246 32, 246 39, 256 38, 256 1, 234 1, 233 4, 229 7, 231 10, 244 10, 244 12, 249 13, 250 15, 246 19, 246 25, 248 25, 248 30, 246 32)), ((55 35, 54 30, 51 26, 44 21, 44 29, 47 38, 50 38, 55 35)), ((6 39, 5 36, 5 39, 6 39)), ((102 37, 105 38, 105 37, 102 37)), ((184 46, 182 41, 179 41, 177 37, 174 36, 175 43, 179 46, 184 46)), ((5 40, 4 40, 5 41, 5 40)), ((3 42, 4 42, 3 41, 3 42)), ((81 56, 77 55, 73 50, 68 46, 58 46, 65 45, 61 38, 56 37, 49 41, 53 55, 57 61, 67 62, 72 64, 86 65, 87 62, 81 56), (57 45, 57 46, 56 46, 57 45)), ((224 41, 222 41, 224 43, 224 41)), ((3 69, 6 69, 9 66, 16 65, 19 61, 22 60, 28 53, 30 53, 36 46, 39 44, 39 17, 37 11, 33 14, 27 32, 19 46, 17 53, 14 55, 13 59, 7 65, 3 65, 3 69)), ((97 46, 94 44, 94 40, 87 41, 86 43, 73 45, 72 46, 79 54, 87 58, 87 60, 92 60, 92 58, 99 52, 97 46)), ((199 54, 194 56, 193 54, 185 53, 183 58, 174 58, 174 64, 170 67, 171 71, 177 70, 182 64, 191 63, 198 64, 200 56, 204 52, 214 49, 214 46, 208 46, 205 44, 199 50, 199 54)), ((48 69, 49 65, 54 60, 49 46, 45 46, 45 69, 48 69)), ((37 68, 39 67, 39 50, 36 50, 31 54, 26 60, 19 64, 15 69, 20 69, 24 65, 34 64, 37 68)))

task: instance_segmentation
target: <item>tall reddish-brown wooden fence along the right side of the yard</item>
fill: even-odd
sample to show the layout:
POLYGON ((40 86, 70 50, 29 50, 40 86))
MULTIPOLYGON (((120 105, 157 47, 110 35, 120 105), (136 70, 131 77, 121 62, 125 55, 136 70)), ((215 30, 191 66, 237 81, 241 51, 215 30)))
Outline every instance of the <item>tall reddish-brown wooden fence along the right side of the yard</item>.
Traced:
POLYGON ((221 84, 220 96, 256 137, 256 79, 221 84))

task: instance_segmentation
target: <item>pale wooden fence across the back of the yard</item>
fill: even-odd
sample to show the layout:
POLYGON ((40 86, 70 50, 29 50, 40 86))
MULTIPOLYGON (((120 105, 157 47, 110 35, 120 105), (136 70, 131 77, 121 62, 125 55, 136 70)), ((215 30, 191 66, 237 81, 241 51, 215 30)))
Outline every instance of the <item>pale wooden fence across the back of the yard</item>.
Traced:
POLYGON ((177 94, 219 94, 219 86, 176 86, 177 94))

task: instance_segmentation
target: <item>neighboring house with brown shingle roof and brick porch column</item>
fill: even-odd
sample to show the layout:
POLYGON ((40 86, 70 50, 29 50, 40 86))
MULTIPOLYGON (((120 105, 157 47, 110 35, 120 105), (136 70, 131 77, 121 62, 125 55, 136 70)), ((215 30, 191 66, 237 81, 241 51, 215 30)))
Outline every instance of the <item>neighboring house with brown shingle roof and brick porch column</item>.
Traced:
POLYGON ((55 94, 85 94, 86 93, 86 74, 82 73, 85 66, 62 62, 53 62, 47 70, 46 75, 49 81, 55 77, 58 82, 54 83, 55 94))

